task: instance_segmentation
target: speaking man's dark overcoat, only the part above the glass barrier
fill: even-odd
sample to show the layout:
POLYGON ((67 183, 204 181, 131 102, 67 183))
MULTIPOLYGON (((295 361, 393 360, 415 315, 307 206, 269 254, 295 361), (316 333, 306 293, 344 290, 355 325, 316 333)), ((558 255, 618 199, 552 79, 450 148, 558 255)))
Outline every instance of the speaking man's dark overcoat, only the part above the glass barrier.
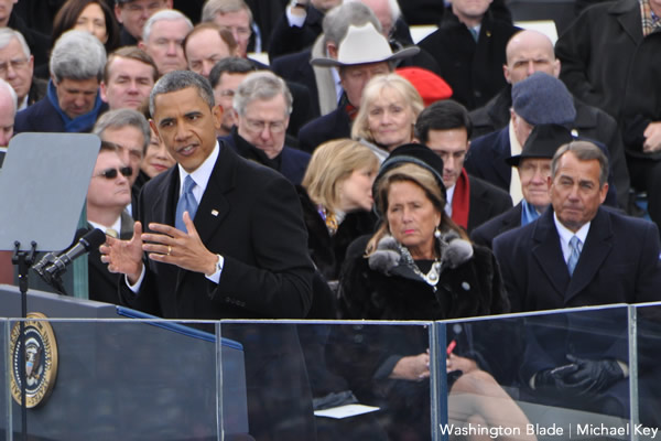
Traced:
MULTIPOLYGON (((150 180, 137 207, 142 225, 174 225, 178 189, 177 168, 150 180)), ((221 144, 194 220, 206 247, 225 257, 220 282, 149 261, 140 294, 123 290, 130 306, 172 319, 305 316, 313 267, 301 205, 280 173, 221 144)))

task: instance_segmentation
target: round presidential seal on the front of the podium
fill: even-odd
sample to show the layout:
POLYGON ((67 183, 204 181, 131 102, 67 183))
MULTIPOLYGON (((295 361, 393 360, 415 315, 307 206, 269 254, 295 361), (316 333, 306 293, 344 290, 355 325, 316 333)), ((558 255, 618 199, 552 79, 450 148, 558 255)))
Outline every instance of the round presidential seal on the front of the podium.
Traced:
POLYGON ((53 390, 57 378, 57 342, 46 316, 31 312, 25 321, 25 359, 21 361, 21 326, 11 329, 11 395, 21 404, 21 363, 25 363, 25 407, 42 404, 53 390))

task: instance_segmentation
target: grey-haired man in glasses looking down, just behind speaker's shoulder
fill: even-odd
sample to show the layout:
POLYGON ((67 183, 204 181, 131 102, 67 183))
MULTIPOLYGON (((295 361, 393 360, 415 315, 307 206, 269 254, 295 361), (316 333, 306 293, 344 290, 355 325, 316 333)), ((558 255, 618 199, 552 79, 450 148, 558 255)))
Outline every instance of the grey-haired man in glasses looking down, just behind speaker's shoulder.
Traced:
POLYGON ((237 88, 232 106, 237 125, 221 139, 241 157, 301 184, 310 153, 284 144, 292 111, 292 95, 284 80, 267 71, 249 74, 237 88))

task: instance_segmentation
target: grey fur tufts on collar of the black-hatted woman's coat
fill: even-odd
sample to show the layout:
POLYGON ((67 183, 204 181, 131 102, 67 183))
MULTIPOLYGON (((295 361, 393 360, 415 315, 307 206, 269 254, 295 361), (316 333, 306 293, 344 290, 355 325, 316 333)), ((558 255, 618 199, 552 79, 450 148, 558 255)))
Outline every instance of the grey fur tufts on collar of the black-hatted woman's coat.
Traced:
MULTIPOLYGON (((441 255, 441 271, 456 268, 473 257, 473 245, 462 239, 456 232, 443 234, 436 240, 436 246, 441 255)), ((375 271, 391 275, 393 269, 405 265, 401 247, 394 237, 383 236, 377 245, 377 250, 369 257, 369 267, 375 271)))

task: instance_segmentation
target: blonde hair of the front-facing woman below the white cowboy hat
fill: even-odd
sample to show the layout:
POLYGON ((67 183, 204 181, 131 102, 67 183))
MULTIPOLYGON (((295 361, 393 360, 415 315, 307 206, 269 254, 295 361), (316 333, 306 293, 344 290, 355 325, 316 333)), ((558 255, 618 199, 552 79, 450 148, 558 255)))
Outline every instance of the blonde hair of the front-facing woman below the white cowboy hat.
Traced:
POLYGON ((368 107, 387 88, 395 90, 404 99, 405 104, 411 107, 414 117, 413 121, 411 121, 411 139, 413 139, 413 123, 415 123, 418 115, 424 109, 424 104, 415 87, 407 78, 398 74, 377 75, 367 83, 362 90, 360 109, 351 128, 351 138, 366 139, 370 142, 375 141, 368 125, 368 107))

